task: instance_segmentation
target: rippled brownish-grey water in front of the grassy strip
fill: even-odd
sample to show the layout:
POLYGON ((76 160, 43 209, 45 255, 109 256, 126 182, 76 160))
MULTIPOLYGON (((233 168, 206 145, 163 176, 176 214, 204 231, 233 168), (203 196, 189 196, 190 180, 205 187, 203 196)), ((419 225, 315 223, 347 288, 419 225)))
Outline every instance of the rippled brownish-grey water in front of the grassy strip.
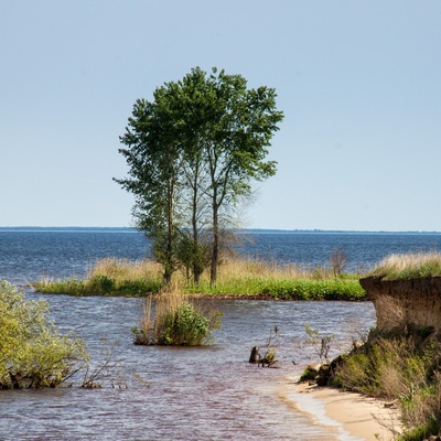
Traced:
MULTIPOLYGON (((337 440, 290 401, 299 367, 315 361, 300 348, 304 323, 335 335, 334 352, 368 329, 372 304, 346 302, 215 301, 223 311, 216 345, 205 348, 131 344, 141 300, 30 294, 49 300, 62 331, 74 330, 95 363, 118 341, 116 361, 127 389, 78 387, 0 394, 2 440, 337 440), (250 348, 268 342, 277 325, 280 368, 247 363, 250 348), (140 375, 150 384, 144 387, 140 375)), ((117 378, 117 373, 115 373, 117 378)))

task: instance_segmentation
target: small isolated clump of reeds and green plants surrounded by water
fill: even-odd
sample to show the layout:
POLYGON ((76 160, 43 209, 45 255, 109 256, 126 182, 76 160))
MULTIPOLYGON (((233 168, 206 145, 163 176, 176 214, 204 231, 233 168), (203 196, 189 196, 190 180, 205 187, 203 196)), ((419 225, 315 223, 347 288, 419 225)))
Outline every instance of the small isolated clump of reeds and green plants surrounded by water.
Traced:
POLYGON ((220 326, 219 313, 204 311, 176 290, 144 300, 140 327, 133 327, 135 344, 201 346, 213 342, 220 326), (154 302, 154 312, 153 312, 154 302))

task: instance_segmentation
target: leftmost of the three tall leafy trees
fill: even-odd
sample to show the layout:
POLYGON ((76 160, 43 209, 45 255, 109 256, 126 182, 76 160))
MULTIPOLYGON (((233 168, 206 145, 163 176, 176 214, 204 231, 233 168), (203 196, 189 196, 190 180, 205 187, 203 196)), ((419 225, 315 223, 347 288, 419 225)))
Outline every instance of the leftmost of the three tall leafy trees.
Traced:
POLYGON ((138 99, 119 149, 129 164, 129 178, 115 180, 133 193, 136 226, 152 239, 153 254, 163 265, 169 283, 176 268, 175 241, 180 225, 180 173, 182 152, 168 108, 166 90, 157 89, 154 103, 138 99))

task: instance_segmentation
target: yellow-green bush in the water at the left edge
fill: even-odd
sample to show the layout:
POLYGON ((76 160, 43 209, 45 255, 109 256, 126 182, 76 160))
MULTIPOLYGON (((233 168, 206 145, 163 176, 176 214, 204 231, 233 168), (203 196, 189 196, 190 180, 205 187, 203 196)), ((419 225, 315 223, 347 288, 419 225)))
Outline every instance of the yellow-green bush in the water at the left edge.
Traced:
POLYGON ((57 387, 86 363, 84 342, 60 335, 47 313, 47 303, 0 281, 1 389, 57 387))

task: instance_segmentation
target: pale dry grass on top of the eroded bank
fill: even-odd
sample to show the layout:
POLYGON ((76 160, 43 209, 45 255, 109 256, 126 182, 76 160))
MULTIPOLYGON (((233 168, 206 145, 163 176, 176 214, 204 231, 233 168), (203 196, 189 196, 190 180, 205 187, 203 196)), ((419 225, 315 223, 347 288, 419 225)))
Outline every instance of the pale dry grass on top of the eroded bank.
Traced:
POLYGON ((441 252, 396 254, 384 258, 369 273, 385 280, 441 277, 441 252))

